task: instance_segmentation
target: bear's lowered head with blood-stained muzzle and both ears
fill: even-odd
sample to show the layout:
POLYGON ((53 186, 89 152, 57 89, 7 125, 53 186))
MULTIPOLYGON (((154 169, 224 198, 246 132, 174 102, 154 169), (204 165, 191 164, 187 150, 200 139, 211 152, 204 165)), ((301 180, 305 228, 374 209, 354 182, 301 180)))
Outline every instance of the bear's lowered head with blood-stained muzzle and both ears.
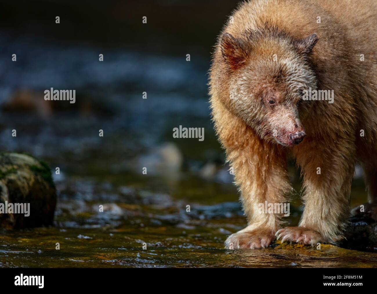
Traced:
POLYGON ((284 146, 305 137, 301 123, 310 110, 303 90, 316 89, 309 58, 317 35, 297 39, 277 29, 224 33, 216 77, 221 101, 264 140, 284 146))

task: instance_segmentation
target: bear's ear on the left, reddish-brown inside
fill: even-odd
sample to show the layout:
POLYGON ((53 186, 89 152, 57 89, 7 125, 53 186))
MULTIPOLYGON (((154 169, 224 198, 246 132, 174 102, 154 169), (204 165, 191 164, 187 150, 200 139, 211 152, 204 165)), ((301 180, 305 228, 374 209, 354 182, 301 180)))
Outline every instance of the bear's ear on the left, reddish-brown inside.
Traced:
POLYGON ((221 37, 221 53, 224 62, 232 69, 242 66, 248 55, 248 46, 246 40, 234 38, 231 34, 225 33, 221 37))

